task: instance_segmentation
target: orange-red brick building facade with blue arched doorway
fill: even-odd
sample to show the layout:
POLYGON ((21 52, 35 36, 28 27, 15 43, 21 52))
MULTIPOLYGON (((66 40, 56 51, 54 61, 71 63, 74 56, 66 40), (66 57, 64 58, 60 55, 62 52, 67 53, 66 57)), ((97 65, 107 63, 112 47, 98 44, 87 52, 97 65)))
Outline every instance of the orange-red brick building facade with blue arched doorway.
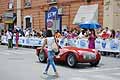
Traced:
POLYGON ((103 25, 103 0, 0 0, 0 24, 5 29, 11 24, 36 31, 53 26, 72 29, 80 6, 94 4, 98 4, 97 21, 103 25))

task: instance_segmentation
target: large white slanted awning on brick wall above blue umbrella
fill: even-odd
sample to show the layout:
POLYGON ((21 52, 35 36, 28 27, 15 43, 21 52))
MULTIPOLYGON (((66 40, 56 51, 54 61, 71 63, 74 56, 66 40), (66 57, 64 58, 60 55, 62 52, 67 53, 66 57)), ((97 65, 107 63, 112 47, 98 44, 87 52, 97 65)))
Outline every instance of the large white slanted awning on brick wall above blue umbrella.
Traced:
POLYGON ((73 24, 80 24, 84 21, 98 21, 98 4, 80 6, 73 24))

